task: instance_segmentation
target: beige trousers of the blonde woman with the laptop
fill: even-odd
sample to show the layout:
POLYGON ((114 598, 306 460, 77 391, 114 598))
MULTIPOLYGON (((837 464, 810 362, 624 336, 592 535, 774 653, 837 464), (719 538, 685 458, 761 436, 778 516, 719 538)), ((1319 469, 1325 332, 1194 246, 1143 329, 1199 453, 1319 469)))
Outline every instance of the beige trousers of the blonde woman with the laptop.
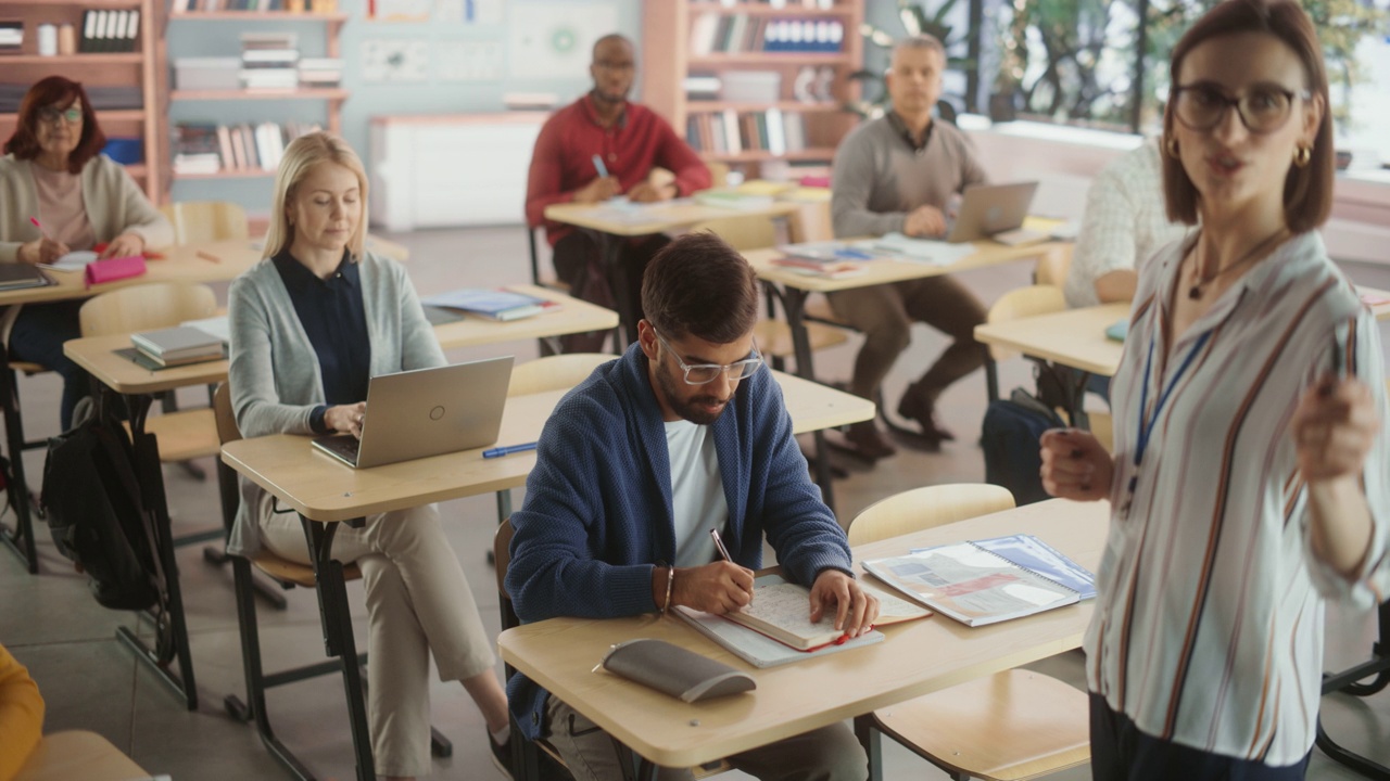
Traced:
MULTIPOLYGON (((277 556, 309 564, 296 513, 260 507, 263 541, 277 556)), ((356 561, 367 589, 367 724, 381 775, 428 775, 430 652, 441 681, 492 668, 492 643, 434 504, 341 524, 334 559, 356 561)))

